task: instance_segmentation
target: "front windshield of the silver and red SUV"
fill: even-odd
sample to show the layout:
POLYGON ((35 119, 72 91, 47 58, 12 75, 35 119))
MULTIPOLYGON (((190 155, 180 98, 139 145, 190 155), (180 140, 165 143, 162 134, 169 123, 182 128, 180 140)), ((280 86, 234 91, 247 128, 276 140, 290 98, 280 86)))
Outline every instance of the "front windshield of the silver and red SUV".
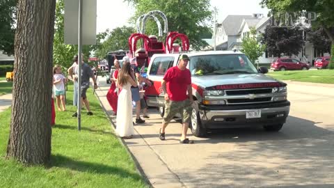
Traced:
POLYGON ((258 73, 244 54, 190 56, 189 70, 194 76, 258 73))

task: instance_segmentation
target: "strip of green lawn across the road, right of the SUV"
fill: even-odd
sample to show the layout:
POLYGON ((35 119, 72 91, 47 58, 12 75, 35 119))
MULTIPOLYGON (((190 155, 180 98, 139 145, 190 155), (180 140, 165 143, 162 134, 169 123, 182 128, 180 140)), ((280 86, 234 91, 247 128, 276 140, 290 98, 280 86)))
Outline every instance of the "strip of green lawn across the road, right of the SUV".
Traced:
POLYGON ((267 75, 280 80, 334 84, 334 70, 289 70, 268 72, 267 75))

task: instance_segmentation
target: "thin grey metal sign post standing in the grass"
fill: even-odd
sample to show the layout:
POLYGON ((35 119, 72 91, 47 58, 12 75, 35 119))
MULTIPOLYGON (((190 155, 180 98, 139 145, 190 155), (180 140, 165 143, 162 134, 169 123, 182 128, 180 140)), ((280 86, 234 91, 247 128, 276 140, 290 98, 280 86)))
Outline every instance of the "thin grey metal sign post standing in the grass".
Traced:
POLYGON ((79 0, 79 26, 78 26, 78 130, 81 130, 81 65, 82 65, 82 0, 79 0))

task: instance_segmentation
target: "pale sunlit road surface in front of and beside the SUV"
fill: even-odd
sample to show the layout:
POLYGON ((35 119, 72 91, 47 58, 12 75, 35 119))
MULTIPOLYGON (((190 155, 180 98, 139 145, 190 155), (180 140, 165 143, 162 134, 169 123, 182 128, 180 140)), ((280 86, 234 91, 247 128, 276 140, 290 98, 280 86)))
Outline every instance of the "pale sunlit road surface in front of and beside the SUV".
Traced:
MULTIPOLYGON (((102 81, 104 83, 105 81, 102 81)), ((101 92, 107 87, 101 84, 101 92)), ((180 123, 157 137, 161 118, 136 125, 125 140, 154 187, 334 187, 334 86, 288 82, 292 103, 280 132, 221 130, 180 144, 180 123)))

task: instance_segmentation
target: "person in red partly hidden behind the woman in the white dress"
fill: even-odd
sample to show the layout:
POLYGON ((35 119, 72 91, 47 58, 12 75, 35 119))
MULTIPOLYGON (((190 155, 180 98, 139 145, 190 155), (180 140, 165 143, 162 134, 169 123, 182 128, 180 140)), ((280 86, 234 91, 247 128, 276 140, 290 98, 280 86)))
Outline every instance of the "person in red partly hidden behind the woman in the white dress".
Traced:
POLYGON ((116 90, 116 82, 118 77, 118 71, 120 70, 120 63, 117 59, 113 62, 113 65, 115 66, 116 70, 112 73, 110 81, 111 86, 109 88, 108 93, 106 93, 106 99, 108 100, 111 108, 113 109, 113 112, 115 115, 117 114, 117 100, 118 100, 118 90, 116 90))

